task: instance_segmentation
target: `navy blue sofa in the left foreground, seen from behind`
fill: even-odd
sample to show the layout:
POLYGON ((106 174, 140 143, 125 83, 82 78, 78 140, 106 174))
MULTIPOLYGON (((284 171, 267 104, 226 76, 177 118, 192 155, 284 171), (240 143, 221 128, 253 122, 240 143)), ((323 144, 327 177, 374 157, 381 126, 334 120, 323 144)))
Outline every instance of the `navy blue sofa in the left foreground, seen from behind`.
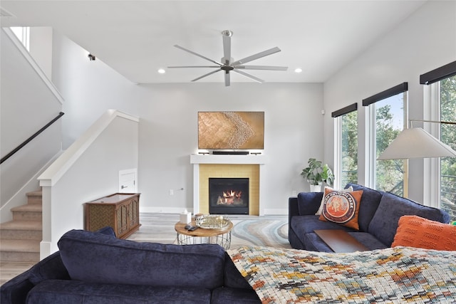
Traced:
POLYGON ((59 251, 1 285, 1 304, 261 303, 215 244, 138 243, 71 230, 59 251))

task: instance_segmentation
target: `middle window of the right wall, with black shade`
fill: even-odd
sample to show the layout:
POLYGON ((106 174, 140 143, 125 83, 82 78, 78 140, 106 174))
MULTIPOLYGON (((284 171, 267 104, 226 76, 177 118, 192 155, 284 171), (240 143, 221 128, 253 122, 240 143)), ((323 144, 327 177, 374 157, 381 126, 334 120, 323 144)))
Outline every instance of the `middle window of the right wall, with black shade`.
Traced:
POLYGON ((407 114, 408 84, 402 83, 363 100, 368 106, 371 159, 368 184, 378 190, 407 196, 407 161, 402 159, 377 160, 378 156, 404 129, 407 114))

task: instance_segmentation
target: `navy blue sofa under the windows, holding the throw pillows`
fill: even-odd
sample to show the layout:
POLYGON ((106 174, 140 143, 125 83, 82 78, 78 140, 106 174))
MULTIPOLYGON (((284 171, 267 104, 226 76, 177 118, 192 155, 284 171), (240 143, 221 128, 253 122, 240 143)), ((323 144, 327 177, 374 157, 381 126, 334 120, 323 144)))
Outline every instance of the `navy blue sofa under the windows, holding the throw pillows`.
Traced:
POLYGON ((316 211, 323 192, 301 192, 289 198, 289 242, 291 247, 309 251, 332 252, 317 229, 342 229, 370 250, 388 248, 393 243, 398 221, 403 215, 417 215, 432 221, 448 223, 450 216, 440 209, 423 206, 388 192, 379 192, 358 184, 347 184, 363 190, 358 214, 359 230, 330 221, 320 221, 316 211))

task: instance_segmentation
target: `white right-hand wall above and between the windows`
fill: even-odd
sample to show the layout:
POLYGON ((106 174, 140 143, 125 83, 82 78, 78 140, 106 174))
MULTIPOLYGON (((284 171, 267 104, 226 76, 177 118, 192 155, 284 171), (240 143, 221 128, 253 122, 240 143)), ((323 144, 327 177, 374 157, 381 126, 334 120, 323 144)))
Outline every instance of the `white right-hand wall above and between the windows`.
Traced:
MULTIPOLYGON (((456 1, 427 1, 383 39, 324 85, 324 108, 332 112, 358 103, 358 180, 365 184, 367 107, 361 100, 408 82, 409 117, 423 119, 423 85, 420 74, 456 60, 456 1)), ((333 164, 333 119, 324 121, 326 162, 333 164)), ((409 197, 425 201, 423 159, 410 160, 409 197)))

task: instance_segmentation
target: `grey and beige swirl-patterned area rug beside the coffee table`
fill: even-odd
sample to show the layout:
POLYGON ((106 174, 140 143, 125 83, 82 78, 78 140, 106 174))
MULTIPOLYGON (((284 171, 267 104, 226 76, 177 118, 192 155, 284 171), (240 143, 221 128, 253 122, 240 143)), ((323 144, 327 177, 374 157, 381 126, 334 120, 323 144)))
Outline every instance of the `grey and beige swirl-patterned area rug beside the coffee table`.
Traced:
POLYGON ((231 248, 241 246, 268 246, 291 248, 288 241, 288 223, 283 219, 233 219, 231 248))

